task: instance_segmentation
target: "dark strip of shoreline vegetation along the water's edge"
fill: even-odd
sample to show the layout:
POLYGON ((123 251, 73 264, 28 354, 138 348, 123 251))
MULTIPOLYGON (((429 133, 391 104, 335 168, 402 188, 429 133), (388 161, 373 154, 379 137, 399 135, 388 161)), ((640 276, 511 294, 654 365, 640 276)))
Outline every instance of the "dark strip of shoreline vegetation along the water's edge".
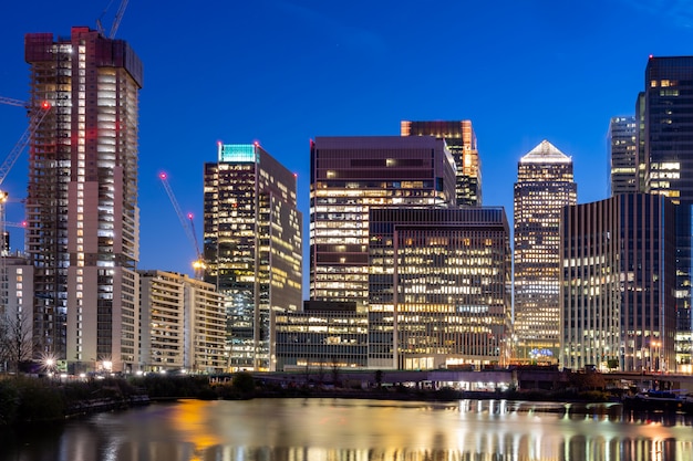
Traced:
MULTIPOLYGON (((324 386, 282 387, 262 383, 249 373, 229 375, 213 381, 208 376, 147 375, 142 377, 106 377, 61 381, 48 377, 0 377, 0 430, 27 425, 64 421, 85 415, 127 409, 156 401, 178 399, 240 400, 252 398, 353 398, 376 400, 411 400, 451 402, 461 399, 506 399, 566 404, 547 406, 544 411, 607 411, 592 404, 618 402, 619 396, 602 390, 565 389, 507 390, 472 392, 442 389, 418 389, 405 386, 343 388, 324 386)), ((541 410, 535 408, 535 410, 541 410)))

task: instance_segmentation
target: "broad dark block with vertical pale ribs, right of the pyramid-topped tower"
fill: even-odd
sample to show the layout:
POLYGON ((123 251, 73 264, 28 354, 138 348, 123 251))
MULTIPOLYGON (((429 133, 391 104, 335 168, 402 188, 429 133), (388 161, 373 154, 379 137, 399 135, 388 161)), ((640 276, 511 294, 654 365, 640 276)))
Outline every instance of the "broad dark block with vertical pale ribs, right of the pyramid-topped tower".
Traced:
POLYGON ((658 195, 625 193, 563 209, 565 367, 676 370, 674 224, 674 206, 658 195))

